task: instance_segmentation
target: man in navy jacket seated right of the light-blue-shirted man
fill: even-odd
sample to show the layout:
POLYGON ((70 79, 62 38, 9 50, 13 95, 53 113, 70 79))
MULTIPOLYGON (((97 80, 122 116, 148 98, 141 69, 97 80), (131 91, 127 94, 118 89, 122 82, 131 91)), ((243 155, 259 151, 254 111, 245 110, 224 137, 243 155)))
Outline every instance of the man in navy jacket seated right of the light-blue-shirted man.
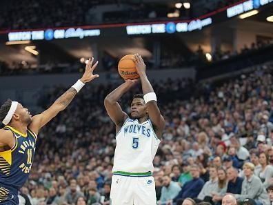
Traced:
POLYGON ((173 202, 176 202, 177 205, 181 205, 185 198, 190 197, 194 199, 199 195, 203 188, 204 181, 200 178, 199 166, 195 164, 190 166, 190 173, 192 175, 192 180, 186 182, 179 194, 172 200, 173 202))

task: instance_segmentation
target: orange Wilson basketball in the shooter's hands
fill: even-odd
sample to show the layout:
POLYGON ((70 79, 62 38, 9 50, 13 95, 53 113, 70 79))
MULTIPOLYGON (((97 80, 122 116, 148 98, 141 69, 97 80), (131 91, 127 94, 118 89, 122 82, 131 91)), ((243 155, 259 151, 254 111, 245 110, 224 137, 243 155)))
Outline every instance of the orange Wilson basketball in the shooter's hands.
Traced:
POLYGON ((119 75, 123 79, 137 79, 139 74, 136 72, 136 65, 134 64, 134 55, 125 55, 119 61, 118 70, 119 75))

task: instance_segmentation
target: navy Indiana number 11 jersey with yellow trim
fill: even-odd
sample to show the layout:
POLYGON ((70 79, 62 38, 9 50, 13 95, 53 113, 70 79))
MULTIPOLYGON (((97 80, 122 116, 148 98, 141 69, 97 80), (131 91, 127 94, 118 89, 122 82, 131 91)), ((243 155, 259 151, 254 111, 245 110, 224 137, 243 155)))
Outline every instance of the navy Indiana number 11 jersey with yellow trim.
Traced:
POLYGON ((28 130, 24 135, 10 126, 15 143, 10 150, 0 152, 0 185, 12 191, 19 190, 28 179, 35 153, 37 135, 28 130))

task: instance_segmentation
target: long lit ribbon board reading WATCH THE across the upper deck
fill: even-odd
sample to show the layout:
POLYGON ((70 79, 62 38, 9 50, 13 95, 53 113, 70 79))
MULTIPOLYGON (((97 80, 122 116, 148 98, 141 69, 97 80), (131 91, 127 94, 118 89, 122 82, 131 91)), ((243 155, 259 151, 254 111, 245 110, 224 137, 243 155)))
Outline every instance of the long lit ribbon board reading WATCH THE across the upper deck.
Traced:
POLYGON ((37 40, 54 40, 54 39, 70 39, 85 37, 109 37, 114 35, 157 35, 157 34, 174 34, 193 32, 202 30, 214 23, 226 21, 229 18, 239 14, 249 12, 257 8, 261 8, 273 0, 247 0, 236 3, 234 6, 221 8, 210 14, 192 20, 175 20, 175 21, 158 21, 145 23, 117 23, 82 26, 79 28, 50 28, 50 29, 34 29, 19 30, 11 32, 0 32, 8 34, 5 38, 8 41, 37 41, 37 40))

